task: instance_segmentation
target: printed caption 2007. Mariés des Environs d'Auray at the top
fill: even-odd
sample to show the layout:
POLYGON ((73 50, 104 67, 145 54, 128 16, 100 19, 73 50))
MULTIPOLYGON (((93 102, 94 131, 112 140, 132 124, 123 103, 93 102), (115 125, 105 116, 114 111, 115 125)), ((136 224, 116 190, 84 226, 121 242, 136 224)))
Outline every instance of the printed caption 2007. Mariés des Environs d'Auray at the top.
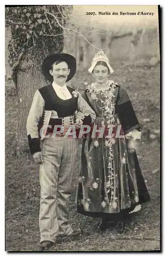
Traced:
POLYGON ((154 12, 86 12, 86 15, 154 15, 154 12))

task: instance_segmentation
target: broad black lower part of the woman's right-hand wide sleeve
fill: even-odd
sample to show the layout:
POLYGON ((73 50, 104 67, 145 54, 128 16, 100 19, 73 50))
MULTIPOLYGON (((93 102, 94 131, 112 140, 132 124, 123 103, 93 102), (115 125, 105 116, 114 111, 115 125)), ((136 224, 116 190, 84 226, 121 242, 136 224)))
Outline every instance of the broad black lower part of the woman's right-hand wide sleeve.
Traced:
POLYGON ((119 89, 115 108, 125 134, 133 130, 140 130, 141 126, 135 115, 132 103, 127 92, 122 87, 119 89))

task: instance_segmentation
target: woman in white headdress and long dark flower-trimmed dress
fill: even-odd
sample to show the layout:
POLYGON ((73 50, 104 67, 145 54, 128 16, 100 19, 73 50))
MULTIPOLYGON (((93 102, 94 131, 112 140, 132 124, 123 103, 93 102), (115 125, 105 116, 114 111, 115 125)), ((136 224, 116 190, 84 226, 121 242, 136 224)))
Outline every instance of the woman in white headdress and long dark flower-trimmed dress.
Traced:
POLYGON ((140 210, 150 196, 134 148, 141 133, 131 101, 121 86, 108 80, 113 70, 103 51, 88 71, 95 82, 84 98, 97 114, 93 130, 100 128, 104 134, 94 131, 83 140, 76 203, 80 214, 101 217, 100 229, 105 230, 108 220, 119 221, 140 210))

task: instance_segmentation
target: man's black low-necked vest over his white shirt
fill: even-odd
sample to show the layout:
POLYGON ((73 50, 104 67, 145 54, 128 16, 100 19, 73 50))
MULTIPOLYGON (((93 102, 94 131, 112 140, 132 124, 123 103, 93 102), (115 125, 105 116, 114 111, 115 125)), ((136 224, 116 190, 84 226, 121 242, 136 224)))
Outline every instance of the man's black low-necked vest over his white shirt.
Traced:
POLYGON ((54 110, 57 112, 58 117, 74 115, 75 111, 78 109, 79 96, 75 98, 72 94, 75 89, 70 87, 67 87, 67 89, 72 95, 72 98, 63 100, 57 96, 52 84, 40 88, 39 92, 45 101, 44 110, 54 110))

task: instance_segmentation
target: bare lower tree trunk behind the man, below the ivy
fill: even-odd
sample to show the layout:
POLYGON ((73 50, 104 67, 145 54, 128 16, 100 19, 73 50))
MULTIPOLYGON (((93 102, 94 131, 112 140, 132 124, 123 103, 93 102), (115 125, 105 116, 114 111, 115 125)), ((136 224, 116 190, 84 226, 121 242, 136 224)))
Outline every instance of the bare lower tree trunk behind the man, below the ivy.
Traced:
MULTIPOLYGON (((34 60, 30 60, 34 63, 34 60)), ((21 65, 22 68, 22 65, 21 65)), ((32 104, 34 93, 37 89, 45 86, 47 83, 39 69, 37 63, 27 66, 23 63, 23 71, 17 72, 17 91, 18 91, 18 120, 17 120, 17 152, 20 153, 23 148, 26 149, 27 143, 27 117, 32 104)), ((27 151, 27 150, 26 150, 27 151)))

